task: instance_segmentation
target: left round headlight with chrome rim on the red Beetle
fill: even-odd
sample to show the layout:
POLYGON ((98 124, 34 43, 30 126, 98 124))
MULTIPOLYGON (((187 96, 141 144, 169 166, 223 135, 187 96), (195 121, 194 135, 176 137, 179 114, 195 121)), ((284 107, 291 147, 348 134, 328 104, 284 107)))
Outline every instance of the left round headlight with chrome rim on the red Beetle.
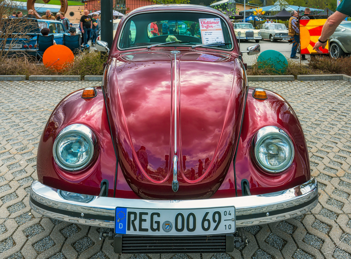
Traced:
POLYGON ((82 124, 67 126, 54 142, 55 162, 68 171, 84 168, 93 157, 94 141, 93 132, 87 126, 82 124))

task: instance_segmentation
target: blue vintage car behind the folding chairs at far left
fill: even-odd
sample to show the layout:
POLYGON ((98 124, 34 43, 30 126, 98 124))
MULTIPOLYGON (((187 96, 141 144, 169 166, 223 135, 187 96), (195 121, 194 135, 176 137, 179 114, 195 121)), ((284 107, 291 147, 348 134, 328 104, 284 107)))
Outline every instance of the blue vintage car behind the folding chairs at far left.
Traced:
POLYGON ((10 18, 5 19, 0 32, 0 48, 4 48, 3 54, 15 54, 25 52, 35 56, 37 50, 37 34, 42 28, 49 28, 49 35, 54 35, 57 44, 62 44, 64 27, 60 21, 32 19, 32 18, 10 18), (3 37, 6 37, 6 41, 3 37))

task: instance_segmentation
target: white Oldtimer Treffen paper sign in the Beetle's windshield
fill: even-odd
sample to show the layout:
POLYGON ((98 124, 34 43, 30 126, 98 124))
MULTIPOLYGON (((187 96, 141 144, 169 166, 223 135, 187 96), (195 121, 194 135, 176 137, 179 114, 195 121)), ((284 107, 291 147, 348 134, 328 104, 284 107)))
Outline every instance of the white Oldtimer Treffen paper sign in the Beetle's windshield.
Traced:
POLYGON ((219 18, 199 19, 199 25, 203 44, 224 43, 222 25, 219 18))

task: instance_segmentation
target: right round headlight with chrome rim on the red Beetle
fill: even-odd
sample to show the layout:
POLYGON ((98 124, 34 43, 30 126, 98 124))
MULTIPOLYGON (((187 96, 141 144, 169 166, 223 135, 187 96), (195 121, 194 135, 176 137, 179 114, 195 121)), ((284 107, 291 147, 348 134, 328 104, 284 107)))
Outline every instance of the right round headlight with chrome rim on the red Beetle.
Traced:
POLYGON ((288 168, 294 157, 290 137, 274 126, 261 128, 253 140, 255 158, 261 168, 279 173, 288 168))

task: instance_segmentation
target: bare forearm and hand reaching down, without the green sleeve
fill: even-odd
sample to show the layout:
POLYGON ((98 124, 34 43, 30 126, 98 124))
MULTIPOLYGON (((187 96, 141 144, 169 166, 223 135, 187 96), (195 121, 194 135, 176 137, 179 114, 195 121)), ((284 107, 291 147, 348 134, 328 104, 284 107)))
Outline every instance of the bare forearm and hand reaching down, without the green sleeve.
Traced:
MULTIPOLYGON (((340 22, 342 22, 346 17, 346 14, 340 13, 338 11, 335 11, 335 13, 330 15, 323 25, 322 33, 320 34, 320 40, 326 41, 335 32, 340 22)), ((322 51, 319 50, 319 47, 325 48, 326 45, 327 43, 320 43, 317 41, 313 47, 313 50, 316 50, 318 53, 322 53, 322 51)))

